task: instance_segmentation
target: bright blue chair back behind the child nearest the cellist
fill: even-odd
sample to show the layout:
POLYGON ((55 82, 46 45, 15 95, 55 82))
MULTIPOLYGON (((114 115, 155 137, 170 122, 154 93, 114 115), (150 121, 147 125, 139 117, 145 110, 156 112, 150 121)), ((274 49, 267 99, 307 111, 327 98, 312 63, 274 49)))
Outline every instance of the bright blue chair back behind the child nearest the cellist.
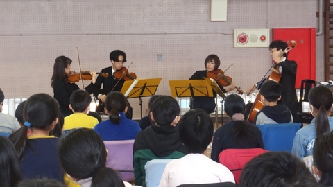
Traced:
POLYGON ((293 139, 301 125, 301 123, 278 123, 257 125, 257 127, 262 132, 265 150, 291 153, 293 139))

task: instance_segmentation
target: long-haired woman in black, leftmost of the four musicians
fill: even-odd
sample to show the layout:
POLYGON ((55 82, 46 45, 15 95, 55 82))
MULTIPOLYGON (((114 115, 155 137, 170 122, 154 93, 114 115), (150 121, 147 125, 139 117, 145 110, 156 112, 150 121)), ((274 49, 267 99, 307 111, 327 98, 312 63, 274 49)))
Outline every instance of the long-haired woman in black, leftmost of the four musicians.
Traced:
MULTIPOLYGON (((68 75, 71 73, 71 59, 65 56, 59 56, 53 65, 53 75, 51 78, 51 87, 53 88, 54 98, 58 100, 60 110, 64 116, 73 114, 69 109, 69 98, 73 91, 80 89, 75 83, 71 83, 67 80, 68 75)), ((94 91, 94 83, 97 75, 95 72, 90 72, 92 75, 92 82, 89 86, 85 87, 85 90, 91 94, 94 91)))

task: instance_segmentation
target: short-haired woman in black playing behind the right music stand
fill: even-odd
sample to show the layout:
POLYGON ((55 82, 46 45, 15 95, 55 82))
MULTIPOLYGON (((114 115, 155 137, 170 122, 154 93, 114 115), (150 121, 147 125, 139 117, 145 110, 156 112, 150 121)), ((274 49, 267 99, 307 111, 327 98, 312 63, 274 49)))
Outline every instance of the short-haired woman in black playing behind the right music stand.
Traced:
MULTIPOLYGON (((217 55, 209 55, 205 59, 205 70, 202 71, 196 71, 190 80, 203 80, 203 77, 207 77, 207 72, 216 71, 220 66, 220 59, 217 55)), ((219 85, 220 89, 225 93, 228 91, 232 91, 235 89, 234 83, 230 84, 230 87, 227 89, 224 89, 221 85, 219 85)), ((213 90, 213 97, 193 97, 191 100, 191 109, 203 109, 208 114, 214 112, 214 109, 216 107, 215 104, 215 98, 216 98, 216 92, 213 90)))

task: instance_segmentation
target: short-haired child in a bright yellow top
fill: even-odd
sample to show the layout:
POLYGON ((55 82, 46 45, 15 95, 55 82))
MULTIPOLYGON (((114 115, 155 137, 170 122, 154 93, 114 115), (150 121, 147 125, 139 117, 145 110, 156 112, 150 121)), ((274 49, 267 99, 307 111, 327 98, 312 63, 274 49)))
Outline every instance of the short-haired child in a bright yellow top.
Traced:
POLYGON ((71 103, 69 104, 69 108, 73 111, 73 114, 65 117, 63 130, 71 130, 79 127, 93 129, 99 123, 96 118, 87 115, 90 103, 92 103, 92 97, 87 91, 83 89, 73 91, 69 102, 71 103))

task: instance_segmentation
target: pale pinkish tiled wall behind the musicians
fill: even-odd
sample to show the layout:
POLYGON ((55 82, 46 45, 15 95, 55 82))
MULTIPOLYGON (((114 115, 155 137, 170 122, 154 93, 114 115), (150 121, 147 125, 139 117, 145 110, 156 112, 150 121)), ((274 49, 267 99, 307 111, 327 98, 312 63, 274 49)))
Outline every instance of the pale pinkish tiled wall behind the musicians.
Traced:
MULTIPOLYGON (((125 51, 125 66, 133 62, 129 70, 139 78, 162 78, 156 94, 167 95, 168 80, 188 79, 214 53, 221 69, 234 64, 226 75, 246 91, 266 73, 271 58, 268 48, 233 48, 233 29, 316 27, 316 11, 316 0, 229 0, 227 21, 212 22, 210 0, 0 0, 0 88, 6 98, 53 95, 54 60, 66 55, 78 71, 78 47, 81 67, 89 71, 110 66, 110 51, 125 51)), ((316 42, 321 81, 323 35, 316 42)), ((145 112, 148 98, 142 100, 145 112)), ((130 103, 139 118, 139 99, 130 103)))

